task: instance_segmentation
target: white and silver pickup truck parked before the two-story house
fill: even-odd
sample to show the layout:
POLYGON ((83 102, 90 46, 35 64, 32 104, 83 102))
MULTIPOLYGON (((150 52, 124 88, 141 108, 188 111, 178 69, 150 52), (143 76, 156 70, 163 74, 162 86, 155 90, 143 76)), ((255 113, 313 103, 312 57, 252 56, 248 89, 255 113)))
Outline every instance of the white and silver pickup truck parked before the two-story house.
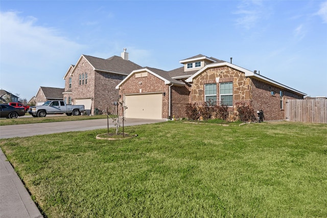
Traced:
POLYGON ((78 116, 85 111, 84 105, 67 105, 64 101, 46 101, 40 106, 30 106, 33 117, 45 117, 46 114, 66 114, 78 116))

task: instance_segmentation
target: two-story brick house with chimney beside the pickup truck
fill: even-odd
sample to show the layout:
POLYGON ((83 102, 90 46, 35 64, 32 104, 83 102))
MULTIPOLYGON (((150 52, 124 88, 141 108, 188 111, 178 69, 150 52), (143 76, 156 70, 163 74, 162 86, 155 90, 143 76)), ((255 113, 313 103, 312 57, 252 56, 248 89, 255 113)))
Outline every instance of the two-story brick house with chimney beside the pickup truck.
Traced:
POLYGON ((119 99, 115 86, 130 72, 142 68, 128 60, 126 49, 121 57, 112 56, 102 59, 81 55, 75 65, 71 65, 64 75, 66 103, 83 104, 88 115, 95 111, 114 113, 113 102, 119 99))

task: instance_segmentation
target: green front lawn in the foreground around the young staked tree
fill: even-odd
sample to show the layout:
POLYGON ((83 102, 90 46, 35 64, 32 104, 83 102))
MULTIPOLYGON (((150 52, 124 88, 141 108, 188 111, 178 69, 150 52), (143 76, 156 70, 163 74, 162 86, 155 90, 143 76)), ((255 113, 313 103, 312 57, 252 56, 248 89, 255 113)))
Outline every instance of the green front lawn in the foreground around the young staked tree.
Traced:
POLYGON ((165 122, 0 140, 45 217, 327 217, 327 125, 165 122))

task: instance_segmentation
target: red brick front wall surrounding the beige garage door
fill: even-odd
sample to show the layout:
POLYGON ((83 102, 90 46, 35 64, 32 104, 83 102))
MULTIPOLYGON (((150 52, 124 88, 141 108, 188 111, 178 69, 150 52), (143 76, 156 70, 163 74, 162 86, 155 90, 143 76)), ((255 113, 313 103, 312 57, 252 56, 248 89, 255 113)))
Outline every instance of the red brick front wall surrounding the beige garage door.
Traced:
MULTIPOLYGON (((162 95, 162 118, 167 118, 169 114, 169 86, 166 85, 164 81, 162 81, 156 76, 153 76, 150 73, 148 73, 146 77, 138 78, 136 78, 135 74, 133 74, 128 80, 125 81, 124 84, 121 85, 119 95, 121 95, 120 100, 122 101, 124 94, 141 94, 155 92, 166 93, 165 96, 162 95)), ((120 114, 120 116, 122 116, 122 114, 120 114)))

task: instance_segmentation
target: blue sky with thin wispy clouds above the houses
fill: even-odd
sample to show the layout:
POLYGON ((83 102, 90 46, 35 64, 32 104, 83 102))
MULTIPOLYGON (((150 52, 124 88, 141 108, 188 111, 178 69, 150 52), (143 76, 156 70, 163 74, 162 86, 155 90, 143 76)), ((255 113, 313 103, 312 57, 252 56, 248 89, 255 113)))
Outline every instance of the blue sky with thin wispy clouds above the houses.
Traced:
POLYGON ((327 1, 0 1, 0 88, 30 100, 64 88, 82 54, 126 48, 173 70, 198 54, 230 61, 308 96, 327 96, 327 1))

